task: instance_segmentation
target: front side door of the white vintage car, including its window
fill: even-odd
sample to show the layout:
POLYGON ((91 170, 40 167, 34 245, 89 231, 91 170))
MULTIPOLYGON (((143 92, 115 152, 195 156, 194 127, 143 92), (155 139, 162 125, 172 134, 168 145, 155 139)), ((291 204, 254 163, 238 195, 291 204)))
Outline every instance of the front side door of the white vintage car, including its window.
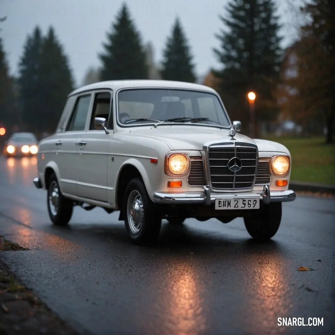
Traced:
POLYGON ((111 90, 97 90, 93 93, 92 112, 87 131, 79 146, 78 195, 84 198, 108 202, 107 165, 108 147, 113 136, 113 112, 111 90), (106 119, 106 131, 94 127, 94 118, 106 119))

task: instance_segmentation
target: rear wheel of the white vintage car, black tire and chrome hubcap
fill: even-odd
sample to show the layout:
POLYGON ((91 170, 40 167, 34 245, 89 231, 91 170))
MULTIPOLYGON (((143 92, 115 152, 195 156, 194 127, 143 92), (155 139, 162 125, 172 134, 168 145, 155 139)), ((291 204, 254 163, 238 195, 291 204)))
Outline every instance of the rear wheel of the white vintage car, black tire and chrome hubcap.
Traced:
POLYGON ((73 212, 73 201, 62 195, 57 177, 54 173, 50 176, 48 181, 47 206, 50 220, 54 225, 66 226, 69 223, 73 212), (53 206, 50 200, 53 191, 58 193, 58 203, 55 203, 57 206, 53 206))

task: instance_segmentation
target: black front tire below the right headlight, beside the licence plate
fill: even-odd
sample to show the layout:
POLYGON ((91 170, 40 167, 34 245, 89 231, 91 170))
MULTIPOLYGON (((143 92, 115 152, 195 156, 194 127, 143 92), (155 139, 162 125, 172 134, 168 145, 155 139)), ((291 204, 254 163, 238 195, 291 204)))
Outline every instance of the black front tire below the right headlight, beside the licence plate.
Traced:
POLYGON ((258 242, 265 242, 271 239, 279 228, 282 206, 281 202, 261 205, 255 215, 244 218, 244 224, 252 238, 258 242))

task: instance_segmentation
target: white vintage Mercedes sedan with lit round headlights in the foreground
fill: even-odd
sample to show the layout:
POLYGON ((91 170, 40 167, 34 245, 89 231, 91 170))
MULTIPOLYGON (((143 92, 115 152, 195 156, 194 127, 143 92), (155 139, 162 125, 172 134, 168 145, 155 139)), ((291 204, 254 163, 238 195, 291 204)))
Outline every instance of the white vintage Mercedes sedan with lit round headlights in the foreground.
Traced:
MULTIPOLYGON (((207 86, 153 80, 105 81, 69 94, 56 133, 40 142, 37 188, 51 221, 73 206, 120 211, 132 241, 155 241, 162 219, 223 223, 243 217, 250 235, 278 230, 291 157, 283 145, 238 134, 207 86)), ((205 223, 204 223, 205 224, 205 223)))

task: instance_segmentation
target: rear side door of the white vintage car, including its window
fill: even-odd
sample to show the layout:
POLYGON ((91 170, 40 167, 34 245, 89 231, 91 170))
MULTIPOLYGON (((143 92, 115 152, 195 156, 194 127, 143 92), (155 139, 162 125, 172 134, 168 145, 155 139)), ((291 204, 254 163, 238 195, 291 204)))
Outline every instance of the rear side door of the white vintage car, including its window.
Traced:
POLYGON ((56 163, 62 193, 78 195, 78 166, 80 140, 85 130, 91 93, 78 95, 65 131, 55 137, 56 163))

